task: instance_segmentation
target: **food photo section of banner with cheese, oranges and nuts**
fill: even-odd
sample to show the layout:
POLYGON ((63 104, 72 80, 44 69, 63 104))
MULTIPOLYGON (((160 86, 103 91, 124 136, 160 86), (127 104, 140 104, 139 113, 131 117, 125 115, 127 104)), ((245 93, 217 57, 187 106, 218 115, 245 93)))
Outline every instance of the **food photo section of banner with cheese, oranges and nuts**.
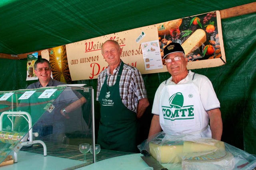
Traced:
POLYGON ((219 11, 160 23, 158 35, 162 58, 166 45, 170 42, 180 43, 189 61, 188 69, 226 63, 219 11))

